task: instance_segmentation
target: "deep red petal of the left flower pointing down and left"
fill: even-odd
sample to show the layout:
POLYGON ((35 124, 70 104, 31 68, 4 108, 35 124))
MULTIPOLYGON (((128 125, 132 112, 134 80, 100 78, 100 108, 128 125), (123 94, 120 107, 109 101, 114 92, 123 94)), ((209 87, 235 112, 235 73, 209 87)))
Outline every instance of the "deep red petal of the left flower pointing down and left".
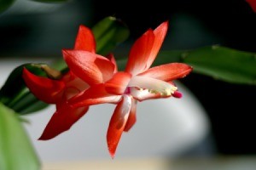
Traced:
POLYGON ((53 139, 60 133, 70 129, 75 122, 84 116, 89 107, 72 108, 66 102, 57 105, 57 111, 50 118, 47 126, 44 128, 40 140, 53 139))

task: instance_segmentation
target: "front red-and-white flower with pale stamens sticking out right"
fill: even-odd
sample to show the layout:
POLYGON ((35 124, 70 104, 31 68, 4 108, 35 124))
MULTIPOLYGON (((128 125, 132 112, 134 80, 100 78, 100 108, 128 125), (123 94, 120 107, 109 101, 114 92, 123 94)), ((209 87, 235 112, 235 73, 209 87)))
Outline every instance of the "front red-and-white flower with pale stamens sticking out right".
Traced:
POLYGON ((84 61, 81 54, 65 51, 68 55, 64 57, 71 71, 81 79, 89 79, 91 82, 90 88, 69 99, 68 103, 75 108, 102 103, 117 105, 107 133, 108 150, 112 157, 122 133, 129 131, 136 122, 137 101, 182 96, 173 81, 188 75, 192 71, 191 66, 170 63, 150 68, 166 37, 167 29, 168 21, 154 30, 148 29, 131 47, 125 71, 115 70, 112 74, 106 69, 109 65, 102 65, 103 77, 106 78, 100 75, 101 78, 97 81, 88 78, 95 71, 90 67, 88 69, 86 59, 84 61))

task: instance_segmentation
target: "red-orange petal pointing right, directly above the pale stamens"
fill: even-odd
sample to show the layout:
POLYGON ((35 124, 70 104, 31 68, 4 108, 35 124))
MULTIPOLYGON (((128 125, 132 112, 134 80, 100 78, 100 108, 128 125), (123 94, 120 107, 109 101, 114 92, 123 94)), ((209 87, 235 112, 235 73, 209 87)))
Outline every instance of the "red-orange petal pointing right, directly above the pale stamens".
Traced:
POLYGON ((138 76, 151 77, 165 82, 183 78, 192 71, 192 67, 183 63, 170 63, 166 65, 154 66, 138 76))

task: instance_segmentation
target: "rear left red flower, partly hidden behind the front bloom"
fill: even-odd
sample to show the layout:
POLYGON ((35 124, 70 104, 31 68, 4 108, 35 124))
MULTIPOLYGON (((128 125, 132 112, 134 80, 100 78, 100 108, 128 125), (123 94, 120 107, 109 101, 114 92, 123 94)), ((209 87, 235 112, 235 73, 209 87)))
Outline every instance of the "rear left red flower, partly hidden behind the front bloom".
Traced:
MULTIPOLYGON (((90 70, 90 75, 85 79, 79 78, 73 71, 67 71, 67 73, 61 75, 61 72, 55 71, 45 65, 42 65, 42 69, 48 73, 49 77, 39 77, 32 74, 26 68, 23 70, 23 78, 32 94, 48 104, 56 105, 56 111, 50 118, 44 129, 44 133, 39 139, 46 140, 54 138, 58 134, 67 131, 73 126, 73 123, 84 116, 89 106, 85 105, 84 107, 73 108, 67 104, 67 99, 89 88, 92 82, 101 82, 103 76, 107 77, 102 72, 106 73, 109 71, 113 74, 115 69, 114 60, 109 60, 96 54, 95 37, 92 31, 86 26, 79 27, 74 49, 70 53, 84 57, 83 60, 86 62, 86 69, 90 70), (84 56, 83 54, 87 55, 84 56), (104 67, 102 65, 109 66, 104 67)), ((65 56, 67 53, 63 55, 65 56)))

